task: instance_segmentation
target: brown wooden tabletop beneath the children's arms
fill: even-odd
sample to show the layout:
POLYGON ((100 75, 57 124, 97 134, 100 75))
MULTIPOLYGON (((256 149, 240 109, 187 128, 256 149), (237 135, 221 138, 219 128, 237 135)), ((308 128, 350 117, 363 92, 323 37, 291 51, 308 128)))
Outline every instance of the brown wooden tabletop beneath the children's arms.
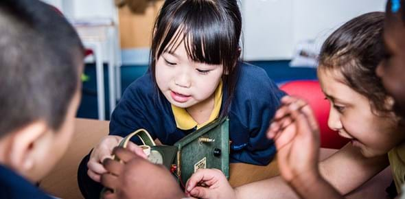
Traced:
MULTIPOLYGON (((72 143, 55 169, 40 181, 40 187, 58 198, 82 198, 77 183, 78 166, 102 137, 108 134, 108 121, 76 119, 72 143)), ((230 183, 233 187, 275 176, 277 163, 268 166, 232 163, 230 183)))

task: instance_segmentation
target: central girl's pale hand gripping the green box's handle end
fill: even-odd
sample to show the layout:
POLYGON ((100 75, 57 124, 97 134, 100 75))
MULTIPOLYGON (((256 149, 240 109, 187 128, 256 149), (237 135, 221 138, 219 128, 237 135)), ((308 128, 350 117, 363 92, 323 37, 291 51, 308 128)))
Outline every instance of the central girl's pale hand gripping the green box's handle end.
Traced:
MULTIPOLYGON (((122 141, 122 139, 123 138, 119 136, 108 135, 95 146, 90 154, 89 162, 87 163, 87 167, 89 168, 89 170, 87 170, 87 174, 91 179, 100 183, 100 176, 107 172, 102 165, 102 161, 104 161, 106 158, 112 158, 113 148, 119 145, 119 142, 122 141)), ((137 153, 139 156, 146 158, 146 154, 144 154, 142 149, 139 148, 135 143, 128 142, 127 148, 132 152, 137 153)))

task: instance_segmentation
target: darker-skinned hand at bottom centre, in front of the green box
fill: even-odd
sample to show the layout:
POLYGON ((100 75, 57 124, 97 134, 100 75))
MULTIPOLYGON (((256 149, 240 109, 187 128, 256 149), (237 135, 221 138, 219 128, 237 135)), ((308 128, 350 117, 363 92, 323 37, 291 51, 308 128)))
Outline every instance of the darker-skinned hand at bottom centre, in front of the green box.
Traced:
POLYGON ((183 191, 172 174, 163 166, 150 163, 143 157, 124 148, 115 148, 121 160, 104 160, 108 173, 102 174, 102 185, 114 189, 103 198, 184 198, 183 191))

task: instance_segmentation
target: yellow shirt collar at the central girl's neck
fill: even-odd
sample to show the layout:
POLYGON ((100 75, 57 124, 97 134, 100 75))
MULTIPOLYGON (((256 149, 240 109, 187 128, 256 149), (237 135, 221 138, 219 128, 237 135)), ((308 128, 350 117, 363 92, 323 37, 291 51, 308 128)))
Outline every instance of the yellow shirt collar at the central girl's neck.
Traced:
POLYGON ((205 126, 206 124, 209 124, 209 122, 213 121, 220 115, 221 104, 222 104, 222 81, 220 81, 220 84, 218 84, 218 87, 213 97, 213 110, 211 112, 211 115, 209 116, 209 119, 205 121, 203 124, 198 124, 193 119, 193 117, 189 115, 189 113, 187 113, 187 110, 185 110, 185 108, 179 108, 177 106, 173 106, 172 104, 172 111, 174 115, 174 120, 176 120, 177 128, 180 128, 181 130, 190 130, 194 127, 197 127, 198 129, 205 126))

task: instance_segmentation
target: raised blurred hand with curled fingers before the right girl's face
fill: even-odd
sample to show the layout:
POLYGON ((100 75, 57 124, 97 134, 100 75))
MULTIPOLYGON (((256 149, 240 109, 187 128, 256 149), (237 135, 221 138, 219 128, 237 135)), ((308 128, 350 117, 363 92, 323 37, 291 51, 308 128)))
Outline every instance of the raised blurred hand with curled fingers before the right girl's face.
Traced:
POLYGON ((281 176, 293 183, 296 178, 319 176, 319 126, 310 106, 294 97, 283 97, 267 136, 275 140, 281 176))

